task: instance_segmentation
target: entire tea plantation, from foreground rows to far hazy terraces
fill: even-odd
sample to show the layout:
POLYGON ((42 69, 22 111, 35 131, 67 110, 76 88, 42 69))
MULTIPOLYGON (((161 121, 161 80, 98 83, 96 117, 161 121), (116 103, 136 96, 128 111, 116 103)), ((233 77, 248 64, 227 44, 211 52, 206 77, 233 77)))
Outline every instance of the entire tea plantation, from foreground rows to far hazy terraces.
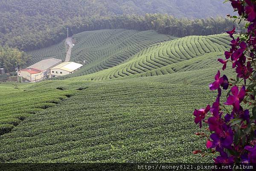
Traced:
MULTIPOLYGON (((120 29, 74 38, 72 60, 87 60, 79 72, 0 84, 0 162, 212 162, 192 154, 207 150, 192 112, 215 99, 208 84, 227 35, 120 29)), ((31 54, 61 57, 58 47, 31 54)))

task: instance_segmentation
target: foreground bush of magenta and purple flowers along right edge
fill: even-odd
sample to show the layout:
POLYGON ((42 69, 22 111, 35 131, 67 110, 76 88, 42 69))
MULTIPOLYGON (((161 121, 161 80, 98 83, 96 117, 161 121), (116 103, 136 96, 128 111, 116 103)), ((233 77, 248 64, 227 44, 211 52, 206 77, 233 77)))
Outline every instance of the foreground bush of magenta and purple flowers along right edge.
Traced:
MULTIPOLYGON (((226 70, 227 62, 231 62, 236 70, 237 79, 228 80, 221 77, 220 71, 215 75, 215 81, 209 85, 210 90, 218 90, 215 102, 206 108, 195 110, 195 123, 202 127, 204 121, 210 132, 197 133, 207 137, 206 146, 209 153, 218 152, 215 163, 256 163, 256 0, 230 0, 240 20, 247 20, 247 33, 234 38, 235 27, 227 32, 233 39, 230 51, 225 52, 226 59, 218 59, 226 70), (221 104, 222 89, 230 91, 227 100, 221 104), (244 104, 252 108, 244 109, 244 104), (227 106, 232 106, 229 110, 227 106), (206 119, 207 113, 212 115, 206 119)), ((233 18, 237 18, 236 16, 233 18)), ((194 151, 194 154, 202 153, 194 151)), ((205 155, 205 154, 203 154, 205 155)))

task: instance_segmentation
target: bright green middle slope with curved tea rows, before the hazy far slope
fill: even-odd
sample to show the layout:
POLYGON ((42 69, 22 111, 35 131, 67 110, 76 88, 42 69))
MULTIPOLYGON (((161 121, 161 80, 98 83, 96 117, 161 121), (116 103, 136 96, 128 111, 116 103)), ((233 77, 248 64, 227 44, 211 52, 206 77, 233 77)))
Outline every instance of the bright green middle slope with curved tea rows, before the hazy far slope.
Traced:
POLYGON ((207 69, 214 66, 219 67, 217 58, 223 56, 224 51, 229 48, 229 43, 230 38, 226 34, 188 36, 148 46, 116 67, 81 77, 74 77, 77 76, 74 74, 62 78, 103 80, 128 75, 154 76, 187 70, 207 69))

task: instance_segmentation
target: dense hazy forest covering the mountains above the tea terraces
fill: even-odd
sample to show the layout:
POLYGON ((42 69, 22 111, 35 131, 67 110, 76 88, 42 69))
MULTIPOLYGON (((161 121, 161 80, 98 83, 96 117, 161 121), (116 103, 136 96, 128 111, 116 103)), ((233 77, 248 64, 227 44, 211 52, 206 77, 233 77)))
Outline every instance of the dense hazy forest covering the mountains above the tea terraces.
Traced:
POLYGON ((232 12, 222 0, 5 0, 0 1, 0 44, 24 51, 39 49, 63 40, 67 27, 71 34, 120 28, 154 29, 177 37, 217 34, 233 23, 209 17, 217 15, 216 8, 232 12))

